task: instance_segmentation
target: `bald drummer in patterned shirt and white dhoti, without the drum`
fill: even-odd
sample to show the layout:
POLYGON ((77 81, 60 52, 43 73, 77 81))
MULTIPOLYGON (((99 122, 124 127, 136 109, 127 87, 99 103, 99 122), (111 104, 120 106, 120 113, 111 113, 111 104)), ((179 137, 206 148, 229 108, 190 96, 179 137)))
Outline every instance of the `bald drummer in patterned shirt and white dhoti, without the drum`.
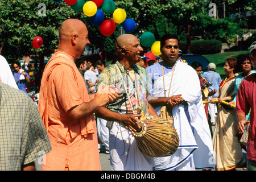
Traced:
POLYGON ((158 117, 147 102, 147 73, 135 64, 143 51, 138 39, 123 34, 115 41, 118 61, 106 67, 98 76, 98 89, 115 85, 122 94, 107 107, 100 107, 96 114, 106 119, 109 126, 110 164, 112 170, 152 170, 152 158, 139 151, 131 132, 140 129, 136 122, 148 115, 158 117))

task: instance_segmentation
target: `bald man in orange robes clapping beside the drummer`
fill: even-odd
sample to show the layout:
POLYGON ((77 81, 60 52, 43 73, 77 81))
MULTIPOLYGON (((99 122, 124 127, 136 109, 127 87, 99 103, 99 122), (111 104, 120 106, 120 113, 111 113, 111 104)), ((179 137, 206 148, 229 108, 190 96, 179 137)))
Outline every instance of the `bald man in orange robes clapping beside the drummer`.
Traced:
POLYGON ((44 69, 40 88, 38 108, 52 146, 42 170, 101 170, 93 113, 117 95, 89 96, 75 64, 87 44, 83 22, 68 19, 61 24, 59 47, 44 69))

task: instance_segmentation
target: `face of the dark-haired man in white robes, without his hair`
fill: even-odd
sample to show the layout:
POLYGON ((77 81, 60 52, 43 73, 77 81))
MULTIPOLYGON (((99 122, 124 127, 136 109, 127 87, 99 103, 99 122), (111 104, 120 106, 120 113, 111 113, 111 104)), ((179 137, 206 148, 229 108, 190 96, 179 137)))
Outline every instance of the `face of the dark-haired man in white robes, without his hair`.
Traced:
POLYGON ((160 51, 162 52, 162 58, 163 58, 164 64, 166 64, 166 65, 174 64, 179 55, 178 40, 177 39, 167 39, 164 42, 163 47, 160 48, 160 51))

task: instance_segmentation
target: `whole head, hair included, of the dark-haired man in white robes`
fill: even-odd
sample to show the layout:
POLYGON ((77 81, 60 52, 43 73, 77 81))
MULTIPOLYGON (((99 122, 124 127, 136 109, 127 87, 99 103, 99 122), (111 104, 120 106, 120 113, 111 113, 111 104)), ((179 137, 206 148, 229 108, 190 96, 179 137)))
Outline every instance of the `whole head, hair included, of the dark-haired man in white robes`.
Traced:
POLYGON ((179 40, 176 35, 166 34, 160 40, 160 52, 164 63, 175 63, 179 55, 179 40))

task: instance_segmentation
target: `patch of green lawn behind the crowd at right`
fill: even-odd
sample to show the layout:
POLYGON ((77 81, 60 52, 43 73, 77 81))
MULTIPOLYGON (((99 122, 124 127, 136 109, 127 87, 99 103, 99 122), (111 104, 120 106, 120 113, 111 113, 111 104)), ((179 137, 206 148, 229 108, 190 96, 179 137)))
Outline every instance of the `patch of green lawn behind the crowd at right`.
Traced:
POLYGON ((221 78, 224 78, 224 64, 229 57, 237 58, 238 55, 249 54, 249 51, 230 51, 224 53, 216 53, 214 55, 203 55, 210 63, 216 64, 216 72, 220 74, 221 78))

